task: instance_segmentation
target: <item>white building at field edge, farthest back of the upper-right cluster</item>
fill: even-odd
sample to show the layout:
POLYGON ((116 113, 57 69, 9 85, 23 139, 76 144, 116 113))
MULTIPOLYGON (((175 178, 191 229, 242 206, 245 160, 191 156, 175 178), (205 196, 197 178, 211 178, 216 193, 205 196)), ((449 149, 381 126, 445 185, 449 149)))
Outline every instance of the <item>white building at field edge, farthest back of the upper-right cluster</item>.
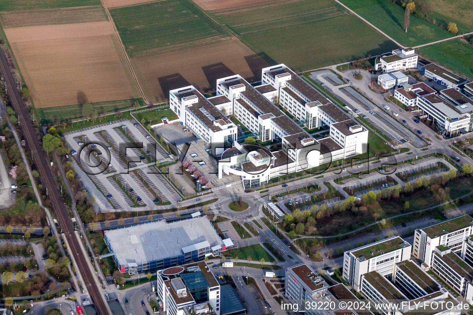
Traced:
POLYGON ((398 70, 407 70, 417 68, 418 55, 413 48, 402 48, 392 51, 389 56, 379 56, 376 59, 375 70, 383 72, 392 72, 398 70))

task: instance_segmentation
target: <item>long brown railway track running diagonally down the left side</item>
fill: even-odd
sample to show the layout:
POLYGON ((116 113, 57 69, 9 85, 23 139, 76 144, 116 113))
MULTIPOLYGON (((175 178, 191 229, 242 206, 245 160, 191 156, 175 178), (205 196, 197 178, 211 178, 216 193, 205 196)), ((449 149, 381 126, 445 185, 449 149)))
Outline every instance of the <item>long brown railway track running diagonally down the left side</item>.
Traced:
POLYGON ((33 161, 35 161, 36 170, 40 175, 43 185, 48 188, 48 194, 51 200, 53 211, 56 214, 61 229, 67 238, 67 242, 69 243, 69 254, 74 255, 80 275, 82 276, 82 281, 84 282, 83 286, 87 287, 90 298, 95 303, 98 313, 100 315, 111 315, 107 305, 105 304, 105 299, 100 292, 100 288, 96 284, 94 275, 88 267, 88 258, 82 255, 79 241, 74 234, 74 227, 72 225, 72 221, 70 220, 69 209, 62 202, 61 193, 53 179, 53 175, 48 163, 48 158, 44 154, 41 142, 38 140, 38 135, 36 134, 35 128, 33 127, 33 123, 28 118, 26 107, 19 94, 19 90, 17 89, 16 81, 11 74, 8 60, 5 57, 5 53, 1 47, 0 73, 3 75, 7 85, 9 98, 18 115, 18 124, 23 130, 27 145, 33 152, 33 161))

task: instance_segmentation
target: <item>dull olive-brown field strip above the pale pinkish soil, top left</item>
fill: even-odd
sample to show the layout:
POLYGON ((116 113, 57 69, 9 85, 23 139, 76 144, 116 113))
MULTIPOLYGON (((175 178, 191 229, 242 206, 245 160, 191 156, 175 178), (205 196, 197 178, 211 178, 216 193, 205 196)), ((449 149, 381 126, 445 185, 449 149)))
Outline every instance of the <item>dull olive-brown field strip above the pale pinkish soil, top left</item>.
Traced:
POLYGON ((0 12, 4 28, 107 21, 100 6, 0 12))

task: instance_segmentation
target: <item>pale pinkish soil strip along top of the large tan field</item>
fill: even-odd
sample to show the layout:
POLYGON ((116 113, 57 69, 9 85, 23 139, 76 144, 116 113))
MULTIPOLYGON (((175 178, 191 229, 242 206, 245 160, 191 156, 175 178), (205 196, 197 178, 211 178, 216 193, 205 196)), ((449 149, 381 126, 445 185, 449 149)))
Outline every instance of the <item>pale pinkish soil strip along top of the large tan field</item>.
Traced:
POLYGON ((110 22, 26 26, 6 28, 4 31, 10 43, 100 36, 114 33, 114 29, 110 22))

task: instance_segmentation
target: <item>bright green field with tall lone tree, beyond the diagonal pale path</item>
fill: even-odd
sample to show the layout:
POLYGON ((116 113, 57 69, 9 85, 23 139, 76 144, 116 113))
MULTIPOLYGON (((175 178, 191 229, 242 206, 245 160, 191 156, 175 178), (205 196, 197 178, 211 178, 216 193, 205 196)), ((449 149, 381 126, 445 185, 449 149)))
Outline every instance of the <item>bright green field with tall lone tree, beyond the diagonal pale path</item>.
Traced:
POLYGON ((408 47, 453 36, 446 30, 413 14, 406 33, 404 31, 404 9, 389 0, 341 0, 341 2, 394 38, 395 41, 408 47))

